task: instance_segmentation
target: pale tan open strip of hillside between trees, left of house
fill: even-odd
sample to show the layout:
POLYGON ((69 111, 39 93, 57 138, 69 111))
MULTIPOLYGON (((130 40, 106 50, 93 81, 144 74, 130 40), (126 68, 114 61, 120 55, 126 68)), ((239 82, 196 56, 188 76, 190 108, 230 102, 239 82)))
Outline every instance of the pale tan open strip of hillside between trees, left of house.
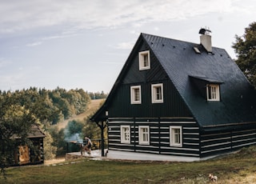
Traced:
POLYGON ((62 128, 65 128, 67 123, 72 120, 83 120, 84 118, 88 117, 90 114, 94 113, 98 108, 101 106, 102 102, 104 102, 105 99, 97 99, 97 100, 91 100, 90 103, 87 106, 86 112, 79 114, 77 116, 74 116, 72 118, 66 119, 63 122, 58 122, 57 126, 58 129, 61 130, 62 128))

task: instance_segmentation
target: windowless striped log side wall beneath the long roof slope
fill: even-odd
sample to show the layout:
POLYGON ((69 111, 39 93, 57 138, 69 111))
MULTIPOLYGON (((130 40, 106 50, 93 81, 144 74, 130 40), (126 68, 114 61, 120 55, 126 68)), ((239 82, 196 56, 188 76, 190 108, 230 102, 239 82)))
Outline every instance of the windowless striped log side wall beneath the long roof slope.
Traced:
POLYGON ((256 129, 205 132, 201 136, 201 157, 238 150, 256 144, 256 129))

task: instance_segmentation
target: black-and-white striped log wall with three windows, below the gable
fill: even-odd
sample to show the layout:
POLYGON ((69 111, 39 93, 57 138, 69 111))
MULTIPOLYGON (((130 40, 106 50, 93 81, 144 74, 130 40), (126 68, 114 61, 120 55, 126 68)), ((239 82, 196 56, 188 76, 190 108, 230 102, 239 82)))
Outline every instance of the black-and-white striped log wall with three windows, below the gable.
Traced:
POLYGON ((108 127, 110 150, 193 157, 200 155, 199 129, 196 122, 162 122, 161 119, 147 121, 144 118, 119 121, 114 118, 109 120, 108 127), (130 126, 130 144, 121 143, 122 125, 130 126), (138 144, 138 126, 150 126, 150 145, 138 144), (182 147, 170 146, 170 126, 182 126, 182 147))

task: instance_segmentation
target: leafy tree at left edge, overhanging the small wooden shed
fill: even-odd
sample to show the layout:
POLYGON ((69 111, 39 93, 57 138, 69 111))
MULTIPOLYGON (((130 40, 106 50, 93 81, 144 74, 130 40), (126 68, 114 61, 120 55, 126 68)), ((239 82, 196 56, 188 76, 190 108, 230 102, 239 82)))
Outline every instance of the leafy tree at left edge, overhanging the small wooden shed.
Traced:
POLYGON ((30 110, 15 103, 15 98, 8 93, 5 98, 0 96, 0 167, 3 174, 5 168, 14 163, 14 150, 19 145, 30 145, 27 135, 31 126, 38 123, 30 110))

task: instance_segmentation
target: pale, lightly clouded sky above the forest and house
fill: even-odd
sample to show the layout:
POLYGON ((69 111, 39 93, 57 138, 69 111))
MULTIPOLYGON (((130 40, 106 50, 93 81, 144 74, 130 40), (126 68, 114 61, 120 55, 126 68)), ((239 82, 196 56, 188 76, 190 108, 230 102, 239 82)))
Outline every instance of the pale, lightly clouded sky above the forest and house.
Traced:
POLYGON ((213 46, 236 58, 254 0, 0 0, 0 90, 109 93, 139 34, 213 46))

